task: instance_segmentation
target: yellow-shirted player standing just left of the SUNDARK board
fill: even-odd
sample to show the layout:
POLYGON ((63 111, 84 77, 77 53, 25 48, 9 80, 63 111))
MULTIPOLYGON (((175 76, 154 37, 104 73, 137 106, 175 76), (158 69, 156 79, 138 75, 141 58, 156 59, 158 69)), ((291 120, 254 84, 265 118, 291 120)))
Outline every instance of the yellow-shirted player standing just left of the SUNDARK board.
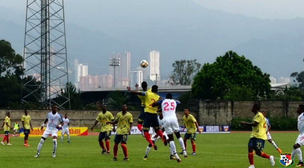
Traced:
MULTIPOLYGON (((187 147, 187 139, 190 139, 192 145, 192 155, 196 155, 196 144, 195 144, 196 131, 198 130, 199 133, 201 133, 201 131, 198 129, 199 124, 197 123, 193 115, 189 114, 189 110, 187 108, 184 109, 184 113, 185 115, 183 116, 183 121, 184 121, 183 131, 185 130, 185 128, 187 129, 187 132, 185 133, 184 136, 185 149, 187 147)), ((183 154, 183 152, 179 154, 183 154)))

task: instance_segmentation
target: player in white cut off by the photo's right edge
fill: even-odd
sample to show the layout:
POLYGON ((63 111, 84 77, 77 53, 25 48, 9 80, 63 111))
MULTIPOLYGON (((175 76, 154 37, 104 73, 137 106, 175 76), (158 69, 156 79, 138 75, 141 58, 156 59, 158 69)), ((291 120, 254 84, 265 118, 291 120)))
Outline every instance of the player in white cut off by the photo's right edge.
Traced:
POLYGON ((298 105, 298 108, 297 108, 297 113, 299 114, 298 130, 299 130, 300 134, 299 134, 297 140, 295 141, 295 145, 293 146, 292 155, 291 155, 292 161, 294 161, 295 155, 298 156, 299 163, 296 167, 304 166, 303 158, 302 158, 302 150, 300 148, 302 145, 304 145, 304 113, 303 112, 304 112, 304 105, 303 104, 298 105))

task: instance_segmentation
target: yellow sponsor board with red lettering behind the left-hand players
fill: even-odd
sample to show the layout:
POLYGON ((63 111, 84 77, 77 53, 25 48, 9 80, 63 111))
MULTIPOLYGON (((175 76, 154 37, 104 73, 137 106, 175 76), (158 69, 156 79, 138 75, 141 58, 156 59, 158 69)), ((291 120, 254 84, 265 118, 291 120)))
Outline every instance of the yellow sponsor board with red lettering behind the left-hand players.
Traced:
MULTIPOLYGON (((44 127, 43 130, 40 129, 39 127, 34 127, 33 130, 31 130, 30 136, 42 136, 46 128, 44 127)), ((71 136, 88 135, 88 127, 69 127, 69 132, 71 136)), ((58 131, 58 136, 61 136, 61 128, 58 131)), ((20 129, 20 137, 24 137, 23 128, 20 129)))

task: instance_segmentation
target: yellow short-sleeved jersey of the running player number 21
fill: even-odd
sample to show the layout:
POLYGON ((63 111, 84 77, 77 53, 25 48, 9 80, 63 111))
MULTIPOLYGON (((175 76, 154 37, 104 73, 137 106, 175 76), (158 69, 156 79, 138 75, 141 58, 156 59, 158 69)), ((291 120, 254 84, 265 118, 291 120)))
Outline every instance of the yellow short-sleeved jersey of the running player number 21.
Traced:
POLYGON ((258 122, 257 126, 252 127, 252 133, 250 138, 259 138, 259 139, 267 139, 266 135, 266 119, 261 112, 257 112, 257 114, 253 117, 252 122, 258 122))

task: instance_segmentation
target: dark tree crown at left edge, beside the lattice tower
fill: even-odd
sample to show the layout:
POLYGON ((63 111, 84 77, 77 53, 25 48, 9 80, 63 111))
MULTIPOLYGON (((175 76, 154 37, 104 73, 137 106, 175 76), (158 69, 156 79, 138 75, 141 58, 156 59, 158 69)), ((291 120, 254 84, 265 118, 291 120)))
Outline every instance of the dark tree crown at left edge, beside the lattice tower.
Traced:
POLYGON ((20 76, 23 74, 23 58, 15 53, 11 43, 0 40, 0 76, 20 76))

